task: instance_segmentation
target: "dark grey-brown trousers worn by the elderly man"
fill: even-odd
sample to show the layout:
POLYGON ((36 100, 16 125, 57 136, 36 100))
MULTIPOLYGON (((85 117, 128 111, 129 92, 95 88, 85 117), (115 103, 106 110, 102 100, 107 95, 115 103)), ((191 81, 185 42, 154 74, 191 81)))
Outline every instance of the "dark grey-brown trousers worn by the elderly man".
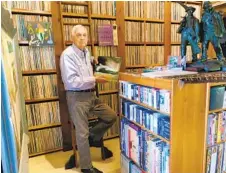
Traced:
POLYGON ((92 167, 90 156, 89 136, 99 141, 104 133, 116 121, 116 113, 96 97, 95 92, 67 91, 67 105, 71 120, 75 125, 76 142, 81 169, 92 167), (98 123, 89 130, 88 118, 99 118, 98 123))

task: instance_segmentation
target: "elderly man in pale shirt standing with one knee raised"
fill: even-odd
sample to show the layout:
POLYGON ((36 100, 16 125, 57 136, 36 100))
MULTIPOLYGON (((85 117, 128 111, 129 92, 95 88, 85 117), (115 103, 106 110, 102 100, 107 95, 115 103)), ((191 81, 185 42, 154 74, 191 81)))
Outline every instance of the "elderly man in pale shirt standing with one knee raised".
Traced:
MULTIPOLYGON (((101 173, 92 166, 89 147, 101 147, 100 141, 116 121, 116 114, 109 106, 101 103, 95 95, 95 83, 107 81, 104 77, 93 75, 91 56, 86 48, 88 42, 86 28, 76 25, 71 35, 73 44, 63 51, 60 57, 60 68, 69 114, 76 128, 80 167, 84 173, 101 173), (90 115, 97 116, 99 123, 89 130, 90 115)), ((113 155, 106 147, 104 152, 107 158, 113 155)))

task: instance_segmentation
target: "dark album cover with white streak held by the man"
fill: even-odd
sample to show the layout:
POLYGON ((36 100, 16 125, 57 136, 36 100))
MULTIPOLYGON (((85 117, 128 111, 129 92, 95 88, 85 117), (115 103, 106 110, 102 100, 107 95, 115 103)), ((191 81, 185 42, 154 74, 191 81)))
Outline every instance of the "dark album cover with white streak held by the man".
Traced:
POLYGON ((95 67, 95 76, 103 76, 108 81, 118 80, 121 66, 121 57, 98 56, 98 64, 95 67))

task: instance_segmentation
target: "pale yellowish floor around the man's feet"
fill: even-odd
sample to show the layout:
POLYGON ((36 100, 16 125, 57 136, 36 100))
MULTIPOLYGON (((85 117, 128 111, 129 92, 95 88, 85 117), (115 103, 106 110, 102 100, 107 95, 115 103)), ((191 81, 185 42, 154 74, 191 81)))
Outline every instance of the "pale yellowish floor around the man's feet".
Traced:
MULTIPOLYGON (((119 138, 104 142, 113 153, 114 157, 103 161, 100 149, 91 148, 93 165, 104 173, 120 173, 120 146, 119 138)), ((29 173, 77 173, 80 169, 65 170, 64 164, 71 156, 72 151, 55 152, 29 159, 29 173)))

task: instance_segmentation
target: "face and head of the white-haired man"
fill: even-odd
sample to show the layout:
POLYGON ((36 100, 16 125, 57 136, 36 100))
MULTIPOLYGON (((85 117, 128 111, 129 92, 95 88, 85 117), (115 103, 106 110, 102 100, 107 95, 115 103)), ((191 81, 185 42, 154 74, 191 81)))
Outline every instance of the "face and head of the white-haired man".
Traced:
POLYGON ((72 40, 75 46, 77 46, 79 49, 84 49, 88 42, 87 30, 83 27, 78 28, 74 33, 72 40))

